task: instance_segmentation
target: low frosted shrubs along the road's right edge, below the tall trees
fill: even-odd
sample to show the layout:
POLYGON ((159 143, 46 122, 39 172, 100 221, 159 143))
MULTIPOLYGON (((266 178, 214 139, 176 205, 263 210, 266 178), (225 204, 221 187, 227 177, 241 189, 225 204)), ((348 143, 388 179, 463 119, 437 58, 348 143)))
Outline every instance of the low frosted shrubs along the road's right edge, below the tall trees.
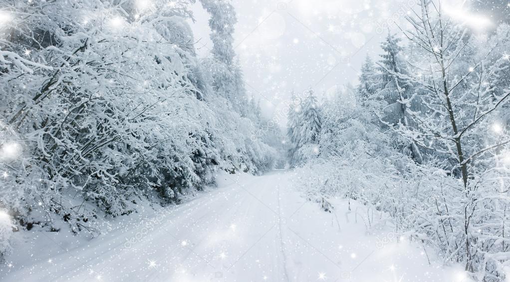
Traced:
POLYGON ((473 266, 480 267, 476 275, 503 275, 509 219, 505 189, 510 185, 505 159, 476 178, 477 189, 468 197, 462 180, 435 163, 418 165, 394 147, 393 135, 382 131, 366 109, 339 112, 338 104, 329 105, 324 110, 327 131, 319 143, 321 158, 298 168, 308 198, 320 202, 342 196, 387 212, 397 234, 434 247, 445 262, 460 263, 466 262, 464 215, 469 204, 473 266))

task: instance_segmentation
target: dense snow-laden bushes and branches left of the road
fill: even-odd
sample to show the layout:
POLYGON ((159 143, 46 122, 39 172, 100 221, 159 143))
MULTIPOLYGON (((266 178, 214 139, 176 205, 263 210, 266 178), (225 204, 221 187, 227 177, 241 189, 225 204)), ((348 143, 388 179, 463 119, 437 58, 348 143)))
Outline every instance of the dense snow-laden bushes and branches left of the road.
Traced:
MULTIPOLYGON (((195 57, 189 2, 0 3, 12 18, 0 28, 0 206, 22 225, 91 231, 98 213, 179 202, 218 169, 271 168, 257 124, 195 57)), ((245 99, 235 79, 224 88, 245 99)))

